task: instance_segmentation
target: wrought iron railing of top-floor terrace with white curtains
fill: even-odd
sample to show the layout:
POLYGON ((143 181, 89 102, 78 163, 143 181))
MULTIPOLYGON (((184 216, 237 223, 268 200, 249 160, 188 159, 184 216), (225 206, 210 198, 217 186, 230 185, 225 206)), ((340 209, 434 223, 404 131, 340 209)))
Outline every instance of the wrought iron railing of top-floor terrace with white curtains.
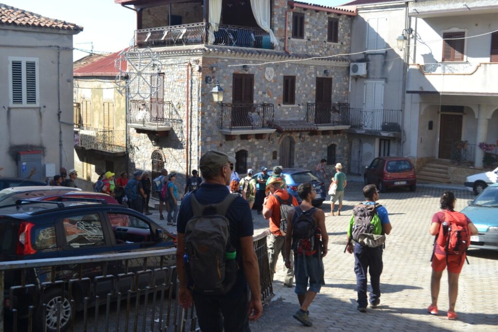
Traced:
MULTIPOLYGON (((205 23, 162 26, 135 30, 138 47, 167 47, 207 44, 205 23)), ((261 28, 220 24, 214 32, 215 45, 271 49, 270 36, 261 28)))

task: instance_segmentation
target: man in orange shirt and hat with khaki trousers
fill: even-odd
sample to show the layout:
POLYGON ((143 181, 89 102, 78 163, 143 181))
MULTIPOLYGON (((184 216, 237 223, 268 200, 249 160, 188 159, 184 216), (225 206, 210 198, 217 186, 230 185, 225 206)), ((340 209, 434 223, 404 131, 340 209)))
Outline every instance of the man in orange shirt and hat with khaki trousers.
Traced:
MULTIPOLYGON (((266 197, 263 201, 263 217, 265 219, 269 219, 269 228, 270 234, 268 235, 268 260, 270 263, 270 274, 271 281, 273 281, 273 274, 275 274, 276 264, 278 260, 278 255, 281 254, 282 258, 285 262, 285 253, 284 253, 284 243, 285 243, 285 234, 280 232, 280 206, 281 204, 287 204, 291 206, 299 205, 294 196, 290 195, 287 190, 282 189, 283 180, 280 177, 270 177, 268 184, 266 184, 266 197), (268 192, 271 194, 268 195, 268 192), (278 196, 280 199, 278 199, 278 196)), ((285 218, 287 216, 284 216, 285 218)), ((284 269, 287 271, 287 274, 284 278, 284 285, 287 287, 293 286, 293 278, 294 278, 294 264, 292 257, 290 258, 290 266, 291 268, 287 269, 284 266, 284 269)))

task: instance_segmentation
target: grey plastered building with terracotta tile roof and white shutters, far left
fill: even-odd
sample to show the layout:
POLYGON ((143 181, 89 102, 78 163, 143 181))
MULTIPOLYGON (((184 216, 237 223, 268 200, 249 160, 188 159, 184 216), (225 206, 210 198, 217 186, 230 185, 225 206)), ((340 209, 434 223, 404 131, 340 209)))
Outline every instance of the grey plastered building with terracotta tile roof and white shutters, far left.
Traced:
POLYGON ((1 176, 73 167, 72 47, 82 29, 0 3, 1 176))

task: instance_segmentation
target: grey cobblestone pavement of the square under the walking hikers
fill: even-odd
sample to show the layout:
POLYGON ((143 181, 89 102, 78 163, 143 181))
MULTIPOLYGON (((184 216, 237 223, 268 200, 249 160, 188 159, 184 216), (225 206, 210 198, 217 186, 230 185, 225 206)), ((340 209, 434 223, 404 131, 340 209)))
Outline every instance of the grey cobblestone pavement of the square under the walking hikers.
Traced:
MULTIPOLYGON (((448 308, 447 274, 443 274, 439 295, 440 316, 426 312, 430 304, 430 256, 433 237, 429 235, 430 220, 439 209, 443 190, 435 185, 417 187, 416 192, 403 188, 380 194, 379 203, 389 212, 392 232, 387 236, 383 254, 384 268, 380 278, 382 296, 378 309, 366 314, 356 310, 356 276, 353 255, 343 253, 346 226, 352 207, 363 199, 363 183, 350 182, 346 188, 341 216, 326 218, 329 253, 324 258, 325 282, 322 291, 310 306, 313 327, 307 331, 497 331, 498 324, 498 252, 469 250, 470 265, 460 275, 456 321, 446 318, 448 308)), ((457 210, 474 195, 453 189, 457 210)), ((330 204, 322 208, 326 214, 330 204)), ((254 234, 268 227, 267 220, 253 210, 254 234)), ((153 219, 158 220, 154 211, 153 219)), ((163 223, 165 225, 165 222, 163 223)), ((168 226, 175 231, 174 227, 168 226)), ((263 317, 251 324, 252 331, 302 331, 292 318, 299 308, 294 290, 284 287, 283 263, 279 259, 273 282, 273 302, 264 307, 263 317)), ((369 286, 370 287, 370 286, 369 286)))

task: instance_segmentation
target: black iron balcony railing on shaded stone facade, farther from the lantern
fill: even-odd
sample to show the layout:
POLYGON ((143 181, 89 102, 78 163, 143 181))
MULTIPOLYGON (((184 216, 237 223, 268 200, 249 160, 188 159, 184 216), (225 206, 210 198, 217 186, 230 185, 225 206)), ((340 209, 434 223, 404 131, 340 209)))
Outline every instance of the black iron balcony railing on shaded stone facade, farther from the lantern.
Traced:
POLYGON ((308 103, 306 121, 315 126, 349 126, 349 104, 308 103))

